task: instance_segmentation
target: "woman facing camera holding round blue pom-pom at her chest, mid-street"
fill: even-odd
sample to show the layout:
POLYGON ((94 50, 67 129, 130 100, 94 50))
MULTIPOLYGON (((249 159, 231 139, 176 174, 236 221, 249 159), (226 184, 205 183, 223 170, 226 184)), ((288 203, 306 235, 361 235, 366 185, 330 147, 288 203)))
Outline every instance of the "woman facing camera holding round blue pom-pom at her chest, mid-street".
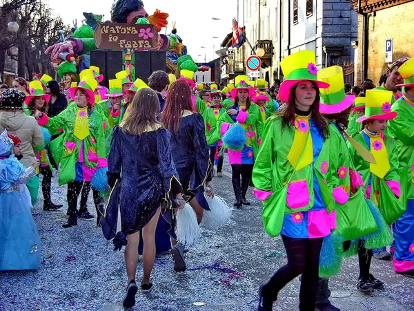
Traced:
POLYGON ((219 117, 217 130, 223 137, 224 147, 228 148, 228 160, 233 171, 234 206, 241 207, 242 204, 250 205, 246 200, 246 193, 259 148, 258 131, 260 131, 262 122, 258 122, 261 120, 259 106, 250 100, 250 97, 255 95, 255 91, 248 86, 246 75, 235 77, 235 88, 231 91, 231 95, 235 98, 235 102, 226 113, 219 117), (227 143, 226 135, 232 141, 237 138, 237 143, 227 143))

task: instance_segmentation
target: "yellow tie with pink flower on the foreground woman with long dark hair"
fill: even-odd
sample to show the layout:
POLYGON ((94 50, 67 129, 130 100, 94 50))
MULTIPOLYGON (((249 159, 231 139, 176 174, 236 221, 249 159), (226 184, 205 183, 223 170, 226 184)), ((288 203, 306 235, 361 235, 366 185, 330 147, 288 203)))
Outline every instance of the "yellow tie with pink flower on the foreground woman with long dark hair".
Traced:
POLYGON ((292 147, 288 154, 288 160, 292 167, 296 167, 296 171, 303 169, 313 162, 313 144, 311 135, 311 126, 309 124, 309 118, 311 115, 305 117, 296 115, 295 117, 295 138, 293 138, 292 147), (308 142, 306 137, 309 135, 308 142), (302 154, 303 153, 303 154, 302 154), (299 158, 302 154, 302 158, 299 158))

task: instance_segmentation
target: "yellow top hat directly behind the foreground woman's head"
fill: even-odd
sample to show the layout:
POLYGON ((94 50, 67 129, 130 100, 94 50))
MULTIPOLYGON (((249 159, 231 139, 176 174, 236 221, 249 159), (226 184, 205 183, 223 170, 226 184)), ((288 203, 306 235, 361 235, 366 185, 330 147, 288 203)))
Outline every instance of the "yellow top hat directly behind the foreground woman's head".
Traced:
POLYGON ((342 67, 330 66, 323 68, 317 72, 317 79, 329 85, 327 88, 320 89, 320 113, 340 113, 353 104, 355 96, 345 94, 342 67))

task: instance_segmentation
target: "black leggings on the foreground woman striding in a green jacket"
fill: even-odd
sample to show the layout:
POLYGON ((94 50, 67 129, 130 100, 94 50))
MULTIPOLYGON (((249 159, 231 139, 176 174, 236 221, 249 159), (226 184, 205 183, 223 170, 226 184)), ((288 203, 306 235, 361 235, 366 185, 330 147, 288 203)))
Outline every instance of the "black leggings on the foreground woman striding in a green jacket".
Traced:
POLYGON ((317 283, 319 278, 319 256, 324 238, 290 238, 282 234, 288 263, 281 267, 264 285, 263 295, 270 301, 284 286, 302 274, 299 292, 299 310, 315 310, 317 283))

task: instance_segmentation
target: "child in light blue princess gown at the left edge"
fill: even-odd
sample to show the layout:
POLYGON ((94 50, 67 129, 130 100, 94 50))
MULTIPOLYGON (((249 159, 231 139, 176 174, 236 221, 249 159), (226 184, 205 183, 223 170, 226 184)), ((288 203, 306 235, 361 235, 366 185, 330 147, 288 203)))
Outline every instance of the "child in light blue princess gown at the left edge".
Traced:
POLYGON ((27 169, 14 157, 7 131, 0 135, 0 271, 34 270, 40 265, 41 243, 32 218, 26 185, 39 162, 27 169))

